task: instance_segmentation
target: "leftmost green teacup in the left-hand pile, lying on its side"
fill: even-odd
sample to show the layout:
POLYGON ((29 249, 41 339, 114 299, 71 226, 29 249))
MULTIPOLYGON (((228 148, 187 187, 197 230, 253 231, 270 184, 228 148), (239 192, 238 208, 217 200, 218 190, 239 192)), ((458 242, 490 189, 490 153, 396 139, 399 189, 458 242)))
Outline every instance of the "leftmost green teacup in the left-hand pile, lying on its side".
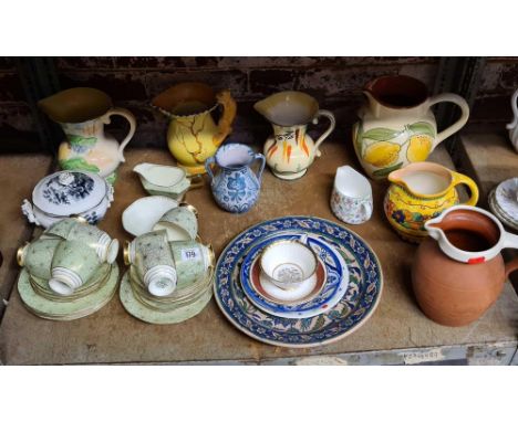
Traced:
POLYGON ((61 238, 40 239, 32 243, 27 243, 18 249, 17 260, 20 266, 27 268, 29 274, 49 279, 51 277, 51 262, 54 251, 63 242, 61 238))

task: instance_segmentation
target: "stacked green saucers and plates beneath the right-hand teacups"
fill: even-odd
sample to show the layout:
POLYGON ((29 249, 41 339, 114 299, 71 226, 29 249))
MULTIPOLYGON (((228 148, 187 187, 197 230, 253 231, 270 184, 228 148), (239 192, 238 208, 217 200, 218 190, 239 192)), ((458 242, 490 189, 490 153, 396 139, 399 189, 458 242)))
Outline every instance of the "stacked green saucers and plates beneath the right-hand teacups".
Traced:
POLYGON ((168 296, 154 296, 138 277, 133 265, 121 281, 120 297, 125 309, 149 324, 176 324, 199 314, 213 297, 213 274, 207 273, 195 283, 178 286, 168 296))

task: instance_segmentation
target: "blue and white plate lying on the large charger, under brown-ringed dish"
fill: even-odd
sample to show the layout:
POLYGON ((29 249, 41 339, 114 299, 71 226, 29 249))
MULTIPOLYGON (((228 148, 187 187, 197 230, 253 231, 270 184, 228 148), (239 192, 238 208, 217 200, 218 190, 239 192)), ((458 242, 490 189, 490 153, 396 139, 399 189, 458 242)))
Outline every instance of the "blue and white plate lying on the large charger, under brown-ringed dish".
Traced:
POLYGON ((240 279, 245 294, 259 309, 283 318, 310 318, 329 310, 340 302, 348 288, 349 272, 343 257, 325 240, 313 234, 305 235, 298 231, 288 231, 269 236, 249 250, 241 264, 240 279), (256 259, 266 246, 280 240, 299 240, 304 242, 305 245, 315 252, 325 266, 327 279, 322 292, 307 303, 297 305, 274 303, 260 295, 252 285, 251 267, 256 259))

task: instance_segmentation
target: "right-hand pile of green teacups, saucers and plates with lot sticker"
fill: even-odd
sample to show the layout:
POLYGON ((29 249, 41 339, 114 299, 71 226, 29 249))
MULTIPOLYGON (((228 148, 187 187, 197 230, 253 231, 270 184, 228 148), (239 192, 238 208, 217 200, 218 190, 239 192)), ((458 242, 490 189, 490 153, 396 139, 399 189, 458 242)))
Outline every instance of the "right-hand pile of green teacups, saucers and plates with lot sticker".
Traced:
POLYGON ((124 247, 130 265, 121 283, 126 310, 153 324, 174 324, 198 314, 211 297, 214 252, 198 239, 197 211, 180 203, 153 230, 124 247))

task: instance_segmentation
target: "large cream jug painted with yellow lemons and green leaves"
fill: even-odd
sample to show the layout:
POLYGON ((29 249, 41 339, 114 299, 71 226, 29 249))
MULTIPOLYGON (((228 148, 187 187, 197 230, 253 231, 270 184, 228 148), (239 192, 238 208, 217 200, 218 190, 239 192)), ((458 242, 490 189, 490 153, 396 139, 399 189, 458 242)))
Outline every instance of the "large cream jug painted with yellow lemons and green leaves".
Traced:
POLYGON ((359 110, 353 143, 361 165, 373 179, 384 179, 410 162, 426 160, 469 117, 463 97, 450 93, 429 97, 426 85, 411 76, 379 77, 363 93, 367 103, 359 110), (437 134, 431 107, 443 102, 456 104, 462 114, 457 122, 437 134))

